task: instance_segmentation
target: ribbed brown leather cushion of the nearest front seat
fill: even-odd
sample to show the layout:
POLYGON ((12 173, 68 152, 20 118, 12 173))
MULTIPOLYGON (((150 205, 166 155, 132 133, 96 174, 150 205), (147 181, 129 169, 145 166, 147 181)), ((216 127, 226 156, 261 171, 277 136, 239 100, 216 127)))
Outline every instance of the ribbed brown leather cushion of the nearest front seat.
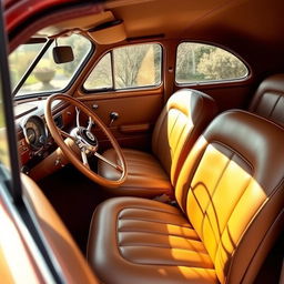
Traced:
POLYGON ((217 283, 211 257, 181 211, 152 200, 101 204, 88 261, 103 283, 217 283))

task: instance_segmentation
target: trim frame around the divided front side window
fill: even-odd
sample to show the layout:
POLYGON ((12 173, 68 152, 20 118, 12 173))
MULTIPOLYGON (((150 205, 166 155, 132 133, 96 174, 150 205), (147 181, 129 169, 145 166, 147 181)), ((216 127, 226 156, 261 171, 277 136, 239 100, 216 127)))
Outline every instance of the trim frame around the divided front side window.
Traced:
POLYGON ((85 79, 83 80, 83 83, 81 85, 81 90, 84 94, 90 93, 106 93, 106 92, 128 92, 128 91, 139 91, 139 90, 155 90, 161 88, 163 84, 163 70, 164 70, 164 47, 161 42, 138 42, 133 44, 125 44, 125 45, 119 45, 113 49, 109 49, 105 52, 101 54, 101 57, 98 58, 94 67, 92 70, 87 74, 85 79), (114 80, 114 57, 113 57, 113 50, 125 48, 125 47, 133 47, 133 45, 142 45, 142 44, 158 44, 161 48, 161 73, 160 73, 160 82, 159 84, 152 84, 152 85, 142 85, 142 87, 131 87, 131 88, 120 88, 115 89, 115 80, 114 80), (93 72, 95 67, 99 64, 99 62, 108 54, 110 53, 111 57, 111 75, 112 75, 112 88, 101 88, 101 89, 85 89, 84 83, 89 79, 90 74, 93 72))

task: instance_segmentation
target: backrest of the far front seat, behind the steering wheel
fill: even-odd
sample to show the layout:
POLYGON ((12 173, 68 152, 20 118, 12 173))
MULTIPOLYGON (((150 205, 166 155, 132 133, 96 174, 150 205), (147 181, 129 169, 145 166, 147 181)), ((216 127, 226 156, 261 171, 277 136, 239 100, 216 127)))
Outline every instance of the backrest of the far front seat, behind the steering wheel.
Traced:
POLYGON ((152 138, 152 151, 175 184, 192 145, 216 115, 214 100, 195 90, 175 92, 160 114, 152 138))

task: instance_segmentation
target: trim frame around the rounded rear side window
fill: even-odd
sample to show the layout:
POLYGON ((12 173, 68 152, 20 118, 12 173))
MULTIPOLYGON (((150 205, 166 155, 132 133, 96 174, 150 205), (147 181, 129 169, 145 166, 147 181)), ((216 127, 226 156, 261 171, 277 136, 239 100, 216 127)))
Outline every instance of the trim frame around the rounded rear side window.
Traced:
POLYGON ((229 84, 229 83, 236 83, 236 82, 245 82, 245 81, 250 80, 251 77, 252 77, 252 69, 251 69, 250 64, 243 58, 241 58, 241 55, 237 54, 235 51, 233 51, 233 50, 231 50, 231 49, 229 49, 229 48, 226 48, 222 44, 212 43, 212 42, 207 42, 207 41, 192 41, 192 40, 183 40, 183 41, 180 41, 176 44, 176 48, 175 48, 175 64, 174 64, 174 84, 176 87, 229 84), (236 79, 206 80, 206 81, 179 83, 179 82, 176 82, 178 49, 179 49, 180 44, 182 44, 182 43, 199 43, 199 44, 206 44, 206 45, 211 45, 211 47, 222 49, 222 50, 233 54, 235 58, 237 58, 245 65, 245 68, 247 70, 247 73, 244 77, 236 78, 236 79))

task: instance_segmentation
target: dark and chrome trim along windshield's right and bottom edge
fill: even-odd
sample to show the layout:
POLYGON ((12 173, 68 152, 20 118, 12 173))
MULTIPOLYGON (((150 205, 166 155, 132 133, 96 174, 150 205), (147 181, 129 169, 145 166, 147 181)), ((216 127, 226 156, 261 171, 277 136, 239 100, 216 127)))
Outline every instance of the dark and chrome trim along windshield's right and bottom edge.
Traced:
POLYGON ((73 83, 78 79, 79 74, 83 71, 83 69, 85 68, 85 65, 89 62, 90 58, 93 55, 93 53, 95 51, 95 44, 90 39, 88 39, 88 38, 85 38, 85 39, 89 40, 89 42, 91 43, 91 48, 90 48, 88 54, 85 55, 84 60, 78 67, 78 69, 75 70, 73 77, 71 78, 71 80, 69 81, 69 83, 67 84, 67 87, 64 89, 54 90, 54 91, 50 90, 50 91, 43 91, 43 92, 34 92, 34 93, 22 94, 22 95, 18 95, 18 97, 16 95, 16 97, 13 97, 13 100, 14 101, 21 101, 21 100, 27 100, 27 99, 37 99, 39 97, 40 98, 45 98, 45 97, 49 97, 49 95, 51 95, 53 93, 65 93, 65 92, 68 92, 68 90, 71 88, 71 85, 73 85, 73 83))

